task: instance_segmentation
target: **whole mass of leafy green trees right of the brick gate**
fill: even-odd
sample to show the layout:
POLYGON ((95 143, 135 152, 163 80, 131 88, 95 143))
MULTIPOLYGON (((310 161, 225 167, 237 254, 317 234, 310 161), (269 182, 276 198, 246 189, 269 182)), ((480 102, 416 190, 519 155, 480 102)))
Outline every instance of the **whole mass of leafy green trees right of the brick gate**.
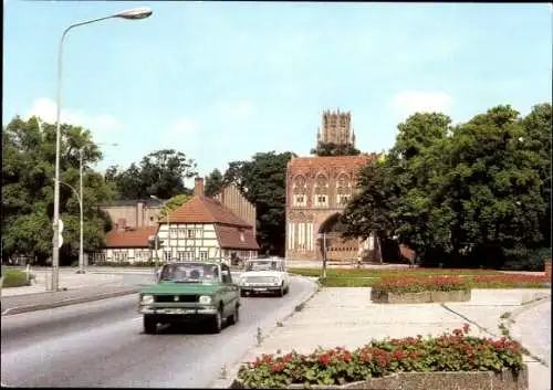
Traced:
POLYGON ((397 235, 422 259, 489 266, 551 245, 551 104, 524 118, 497 106, 456 126, 410 116, 386 158, 362 169, 344 235, 397 235))

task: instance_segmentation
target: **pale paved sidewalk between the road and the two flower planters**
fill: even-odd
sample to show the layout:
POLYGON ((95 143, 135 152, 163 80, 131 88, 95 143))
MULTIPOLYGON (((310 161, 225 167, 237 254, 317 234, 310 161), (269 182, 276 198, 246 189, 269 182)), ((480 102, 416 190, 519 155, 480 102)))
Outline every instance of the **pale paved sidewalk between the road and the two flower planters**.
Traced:
MULTIPOLYGON (((468 303, 386 305, 371 302, 371 288, 324 288, 300 313, 284 322, 283 327, 269 335, 261 346, 251 349, 242 359, 252 361, 261 354, 311 352, 316 347, 355 349, 372 338, 439 336, 471 323, 471 334, 501 337, 500 316, 513 312, 550 289, 476 289, 468 303)), ((551 331, 551 329, 549 330, 551 331)), ((546 346, 551 350, 551 344, 546 346)), ((549 354, 549 352, 547 352, 549 354)), ((228 379, 213 387, 229 387, 239 365, 228 371, 228 379)), ((540 372, 549 370, 541 366, 540 372)), ((540 386, 543 376, 533 371, 530 390, 547 390, 540 386)), ((549 382, 547 382, 549 383, 549 382)))

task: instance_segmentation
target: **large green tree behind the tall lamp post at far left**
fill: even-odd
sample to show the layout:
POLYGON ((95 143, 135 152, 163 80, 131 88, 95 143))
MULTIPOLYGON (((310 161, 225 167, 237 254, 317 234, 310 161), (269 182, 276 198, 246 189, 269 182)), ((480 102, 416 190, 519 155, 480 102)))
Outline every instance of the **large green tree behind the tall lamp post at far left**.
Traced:
MULTIPOLYGON (((102 154, 88 130, 63 124, 60 154, 60 217, 64 221, 61 262, 77 256, 80 208, 74 193, 79 189, 80 148, 83 155, 84 250, 104 246, 109 219, 94 205, 116 196, 114 186, 90 167, 102 154), (71 186, 71 187, 70 187, 71 186)), ((14 117, 2 131, 2 256, 36 256, 43 262, 52 251, 53 179, 55 126, 39 125, 36 118, 14 117)))

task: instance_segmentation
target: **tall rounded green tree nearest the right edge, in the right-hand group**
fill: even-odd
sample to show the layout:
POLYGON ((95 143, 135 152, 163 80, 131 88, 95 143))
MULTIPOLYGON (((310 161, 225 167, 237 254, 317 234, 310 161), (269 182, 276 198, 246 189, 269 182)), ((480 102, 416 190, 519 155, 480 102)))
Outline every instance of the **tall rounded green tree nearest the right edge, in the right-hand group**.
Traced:
POLYGON ((452 135, 452 167, 444 188, 456 211, 452 233, 480 264, 500 266, 510 251, 543 243, 542 151, 523 123, 511 106, 497 106, 452 135))

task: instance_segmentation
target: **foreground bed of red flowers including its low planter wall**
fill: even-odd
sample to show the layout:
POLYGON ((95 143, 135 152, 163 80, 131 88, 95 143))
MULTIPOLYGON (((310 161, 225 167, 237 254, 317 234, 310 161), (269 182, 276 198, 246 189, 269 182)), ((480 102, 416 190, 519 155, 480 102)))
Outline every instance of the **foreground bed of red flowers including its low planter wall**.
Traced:
POLYGON ((255 361, 240 367, 232 387, 425 389, 414 386, 424 383, 429 389, 437 388, 438 378, 438 381, 441 380, 441 390, 468 390, 487 389, 492 378, 505 382, 495 383, 494 388, 528 389, 528 371, 522 361, 520 344, 505 337, 498 340, 477 338, 469 336, 468 331, 469 325, 466 324, 463 329, 455 329, 437 338, 422 339, 417 336, 373 340, 354 351, 334 348, 317 349, 310 355, 295 351, 284 356, 262 355, 255 361), (445 372, 469 372, 472 377, 466 383, 460 383, 461 379, 451 382, 451 375, 448 377, 445 372), (481 376, 478 377, 477 372, 481 376), (480 380, 484 378, 478 386, 477 377, 480 380))

